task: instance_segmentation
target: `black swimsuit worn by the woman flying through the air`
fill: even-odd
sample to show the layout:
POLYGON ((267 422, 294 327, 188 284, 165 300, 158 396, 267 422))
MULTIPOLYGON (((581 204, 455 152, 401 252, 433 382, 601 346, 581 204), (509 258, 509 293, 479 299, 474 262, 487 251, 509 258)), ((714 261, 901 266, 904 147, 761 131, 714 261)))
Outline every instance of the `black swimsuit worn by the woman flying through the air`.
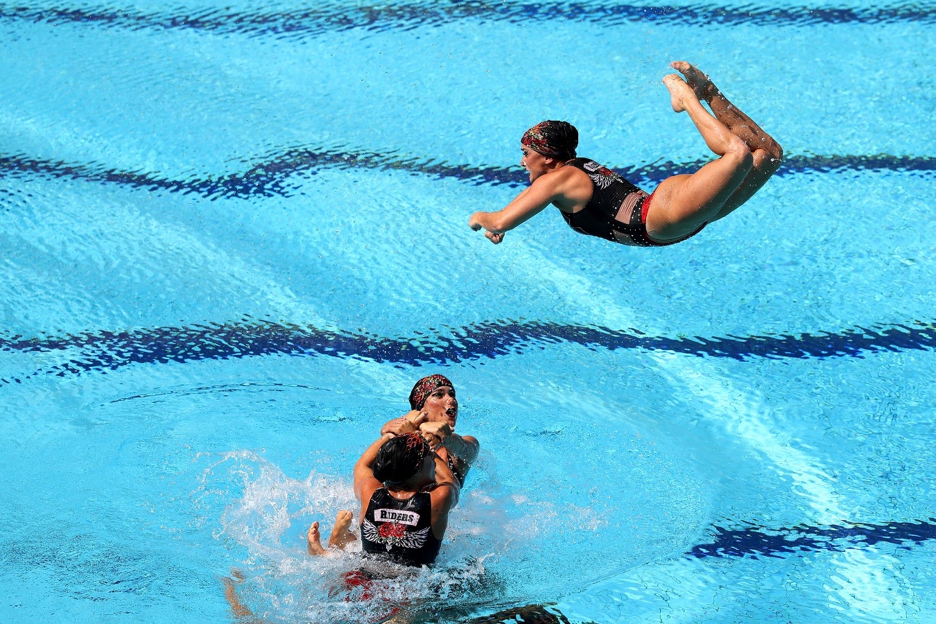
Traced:
MULTIPOLYGON (((663 247, 694 236, 657 242, 647 233, 647 210, 652 196, 624 180, 620 175, 589 158, 573 158, 565 163, 588 174, 592 179, 592 198, 578 212, 565 212, 563 219, 579 234, 613 240, 637 247, 663 247)), ((703 225, 704 227, 704 225, 703 225)))

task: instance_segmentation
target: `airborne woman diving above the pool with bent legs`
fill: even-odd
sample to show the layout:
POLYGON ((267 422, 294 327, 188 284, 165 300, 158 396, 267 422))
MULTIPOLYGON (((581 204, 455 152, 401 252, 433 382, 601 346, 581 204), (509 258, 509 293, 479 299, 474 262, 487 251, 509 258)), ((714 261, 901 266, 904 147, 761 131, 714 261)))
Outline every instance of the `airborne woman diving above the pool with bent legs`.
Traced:
POLYGON ((676 112, 685 111, 719 156, 693 174, 660 182, 650 195, 607 167, 577 158, 578 130, 566 122, 537 123, 520 139, 520 165, 531 185, 507 207, 475 212, 468 225, 494 244, 549 204, 580 234, 624 245, 663 247, 695 236, 736 210, 780 167, 783 150, 695 66, 677 61, 663 79, 676 112), (702 102, 708 102, 714 116, 702 102))

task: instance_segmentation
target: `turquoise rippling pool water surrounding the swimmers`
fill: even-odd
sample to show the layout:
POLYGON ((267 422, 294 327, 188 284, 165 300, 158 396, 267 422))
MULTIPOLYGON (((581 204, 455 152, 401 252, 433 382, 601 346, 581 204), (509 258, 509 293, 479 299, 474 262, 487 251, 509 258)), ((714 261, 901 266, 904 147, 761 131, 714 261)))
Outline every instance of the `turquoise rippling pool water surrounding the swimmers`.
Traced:
POLYGON ((369 622, 304 532, 417 378, 482 453, 421 621, 933 622, 932 4, 0 5, 0 619, 369 622), (687 59, 782 143, 664 250, 522 188, 542 119, 652 187, 687 59))

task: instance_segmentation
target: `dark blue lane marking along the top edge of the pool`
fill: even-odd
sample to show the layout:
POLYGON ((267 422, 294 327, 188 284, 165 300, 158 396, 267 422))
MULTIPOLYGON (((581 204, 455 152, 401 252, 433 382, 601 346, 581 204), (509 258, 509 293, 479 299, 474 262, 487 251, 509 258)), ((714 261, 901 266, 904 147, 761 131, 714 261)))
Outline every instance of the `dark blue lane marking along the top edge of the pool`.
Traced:
POLYGON ((388 6, 340 6, 284 13, 230 12, 229 9, 194 9, 191 15, 146 13, 119 7, 49 7, 0 5, 0 20, 43 24, 81 23, 127 30, 194 30, 224 35, 271 36, 299 40, 328 32, 411 30, 436 27, 456 20, 485 22, 586 22, 620 25, 626 22, 676 24, 737 24, 758 26, 815 26, 819 24, 899 23, 936 21, 936 10, 917 4, 884 8, 750 7, 731 5, 628 5, 600 3, 525 2, 490 4, 468 0, 458 3, 414 3, 388 6))

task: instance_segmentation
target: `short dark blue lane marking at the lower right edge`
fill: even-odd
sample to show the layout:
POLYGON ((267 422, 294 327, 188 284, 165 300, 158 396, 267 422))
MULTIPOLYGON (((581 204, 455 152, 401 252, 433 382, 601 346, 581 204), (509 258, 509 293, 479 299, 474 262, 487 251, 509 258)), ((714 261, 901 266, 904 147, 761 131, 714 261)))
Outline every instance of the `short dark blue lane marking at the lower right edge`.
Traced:
POLYGON ((753 526, 728 530, 713 526, 714 537, 709 544, 698 544, 690 557, 781 557, 802 550, 841 551, 846 548, 874 544, 922 544, 936 539, 936 518, 885 524, 832 525, 826 528, 800 525, 784 529, 753 526))

